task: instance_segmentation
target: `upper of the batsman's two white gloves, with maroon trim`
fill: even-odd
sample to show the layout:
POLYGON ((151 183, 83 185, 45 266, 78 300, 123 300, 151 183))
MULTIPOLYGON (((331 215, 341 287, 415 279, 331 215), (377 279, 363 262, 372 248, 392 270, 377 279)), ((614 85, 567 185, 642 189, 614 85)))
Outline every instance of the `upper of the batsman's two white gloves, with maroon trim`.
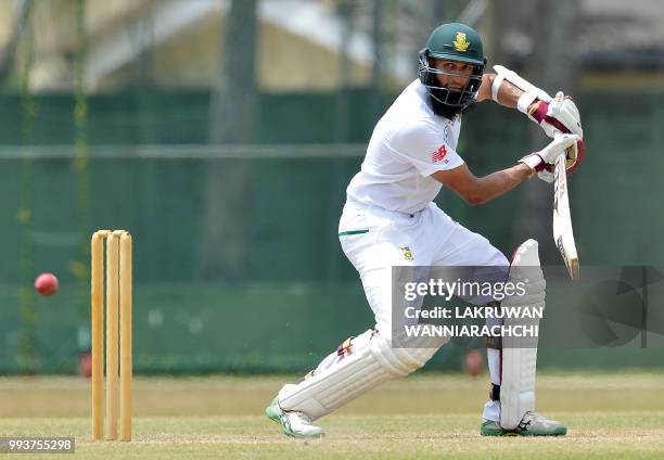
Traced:
POLYGON ((551 102, 536 102, 528 111, 528 118, 538 124, 550 138, 557 132, 571 132, 584 138, 578 108, 572 98, 562 91, 558 91, 551 102))

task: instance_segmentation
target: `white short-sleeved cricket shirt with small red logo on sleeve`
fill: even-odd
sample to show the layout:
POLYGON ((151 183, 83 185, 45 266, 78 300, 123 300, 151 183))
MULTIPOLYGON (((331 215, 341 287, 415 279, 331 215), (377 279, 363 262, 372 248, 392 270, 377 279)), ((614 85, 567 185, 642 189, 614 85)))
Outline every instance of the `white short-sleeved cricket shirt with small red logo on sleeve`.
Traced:
POLYGON ((426 97, 426 88, 414 80, 379 120, 362 167, 346 190, 349 201, 417 213, 443 186, 431 175, 463 164, 456 151, 460 117, 435 115, 426 97))

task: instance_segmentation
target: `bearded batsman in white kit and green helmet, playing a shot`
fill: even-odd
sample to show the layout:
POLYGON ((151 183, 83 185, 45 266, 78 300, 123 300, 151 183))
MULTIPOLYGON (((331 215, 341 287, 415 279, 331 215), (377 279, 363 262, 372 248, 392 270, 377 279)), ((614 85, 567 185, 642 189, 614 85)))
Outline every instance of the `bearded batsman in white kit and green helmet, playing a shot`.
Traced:
MULTIPOLYGON (((580 159, 583 130, 572 99, 562 92, 552 99, 499 65, 495 73, 485 73, 486 61, 471 27, 437 27, 419 54, 419 78, 375 126, 361 169, 347 188, 339 226, 342 248, 359 272, 375 327, 343 342, 299 383, 281 388, 266 413, 286 435, 321 436, 316 420, 421 368, 447 341, 443 337, 436 347, 391 345, 393 266, 495 266, 508 272, 535 266, 539 274, 529 277, 525 290, 528 299, 544 308, 546 283, 535 240, 522 243, 508 260, 486 238, 433 203, 446 186, 469 204, 483 204, 535 175, 551 182, 551 165, 561 155, 567 155, 570 169, 580 159), (463 112, 487 100, 518 108, 552 141, 514 166, 475 177, 457 145, 463 112)), ((487 340, 490 392, 481 434, 566 434, 564 424, 535 412, 536 353, 536 347, 508 349, 501 341, 487 340)))

